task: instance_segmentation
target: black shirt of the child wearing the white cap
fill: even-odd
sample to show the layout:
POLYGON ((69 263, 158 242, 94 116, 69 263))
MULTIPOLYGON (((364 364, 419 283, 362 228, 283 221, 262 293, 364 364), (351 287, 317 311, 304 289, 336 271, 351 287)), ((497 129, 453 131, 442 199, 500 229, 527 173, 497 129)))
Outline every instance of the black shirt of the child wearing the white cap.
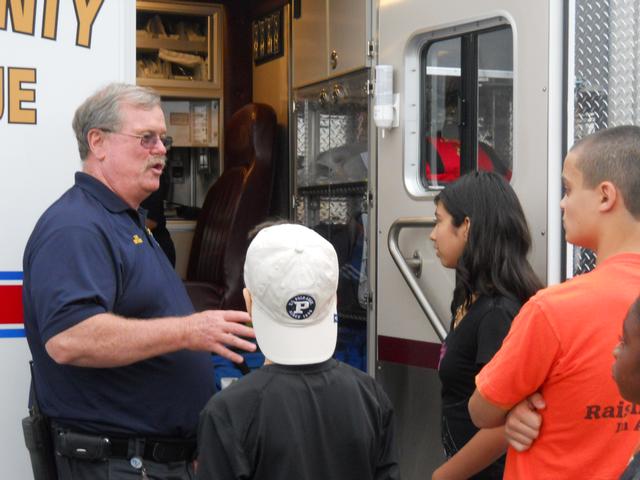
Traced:
POLYGON ((334 359, 268 365, 215 395, 200 415, 200 480, 396 480, 391 403, 334 359))

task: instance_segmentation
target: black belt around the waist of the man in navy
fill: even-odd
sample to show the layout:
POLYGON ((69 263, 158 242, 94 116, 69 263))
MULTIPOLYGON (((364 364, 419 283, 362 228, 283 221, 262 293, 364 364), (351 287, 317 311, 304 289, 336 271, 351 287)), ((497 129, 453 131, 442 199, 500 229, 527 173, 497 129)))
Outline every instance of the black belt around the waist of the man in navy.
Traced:
POLYGON ((139 456, 145 460, 169 463, 190 462, 196 455, 195 440, 181 438, 122 438, 54 428, 54 443, 59 455, 85 460, 139 456))

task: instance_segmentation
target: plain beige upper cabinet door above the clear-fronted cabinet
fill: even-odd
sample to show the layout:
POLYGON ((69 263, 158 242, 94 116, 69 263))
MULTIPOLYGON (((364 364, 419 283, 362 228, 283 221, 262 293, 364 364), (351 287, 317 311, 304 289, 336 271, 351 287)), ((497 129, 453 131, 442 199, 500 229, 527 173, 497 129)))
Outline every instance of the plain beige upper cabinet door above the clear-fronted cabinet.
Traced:
POLYGON ((293 18, 293 87, 344 75, 369 64, 368 0, 300 0, 293 18))

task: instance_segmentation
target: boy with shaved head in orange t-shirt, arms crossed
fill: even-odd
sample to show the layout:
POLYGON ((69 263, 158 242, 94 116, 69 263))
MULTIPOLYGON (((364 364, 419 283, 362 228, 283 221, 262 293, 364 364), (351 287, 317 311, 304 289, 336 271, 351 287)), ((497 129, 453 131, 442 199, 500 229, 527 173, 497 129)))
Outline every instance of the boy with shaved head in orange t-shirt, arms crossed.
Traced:
POLYGON ((535 392, 544 398, 539 436, 527 451, 509 448, 505 479, 618 479, 637 442, 640 407, 622 399, 608 360, 640 291, 640 128, 577 143, 563 184, 566 239, 594 250, 597 267, 523 306, 469 402, 486 428, 504 424, 514 407, 530 411, 535 392))

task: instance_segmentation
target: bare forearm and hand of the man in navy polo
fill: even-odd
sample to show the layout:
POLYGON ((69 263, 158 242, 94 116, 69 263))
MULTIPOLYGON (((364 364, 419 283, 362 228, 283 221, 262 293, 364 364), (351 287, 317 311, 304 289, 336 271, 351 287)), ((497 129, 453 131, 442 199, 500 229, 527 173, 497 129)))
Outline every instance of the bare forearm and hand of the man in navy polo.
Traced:
POLYGON ((83 320, 45 344, 54 361, 78 367, 119 367, 177 350, 214 352, 233 362, 242 356, 226 346, 252 352, 254 337, 246 312, 208 310, 188 317, 136 320, 101 313, 83 320))

